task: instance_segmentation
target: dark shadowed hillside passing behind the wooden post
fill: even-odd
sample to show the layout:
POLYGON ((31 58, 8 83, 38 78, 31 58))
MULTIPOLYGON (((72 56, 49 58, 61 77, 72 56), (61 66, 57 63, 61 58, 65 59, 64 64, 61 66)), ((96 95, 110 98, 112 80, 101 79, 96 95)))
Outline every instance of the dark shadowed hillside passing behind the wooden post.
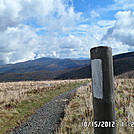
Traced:
MULTIPOLYGON (((113 56, 114 75, 118 76, 129 71, 134 71, 134 52, 123 53, 113 56)), ((134 77, 134 74, 128 77, 134 77)), ((56 79, 91 78, 91 66, 74 69, 59 75, 56 79)))

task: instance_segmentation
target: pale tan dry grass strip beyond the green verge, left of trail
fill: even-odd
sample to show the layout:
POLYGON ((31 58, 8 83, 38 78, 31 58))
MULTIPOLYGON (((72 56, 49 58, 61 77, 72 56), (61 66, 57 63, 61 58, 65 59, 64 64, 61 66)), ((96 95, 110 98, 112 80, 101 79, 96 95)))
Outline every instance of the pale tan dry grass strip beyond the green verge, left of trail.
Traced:
POLYGON ((23 81, 0 83, 0 105, 25 100, 30 92, 54 90, 81 80, 55 80, 55 81, 23 81))

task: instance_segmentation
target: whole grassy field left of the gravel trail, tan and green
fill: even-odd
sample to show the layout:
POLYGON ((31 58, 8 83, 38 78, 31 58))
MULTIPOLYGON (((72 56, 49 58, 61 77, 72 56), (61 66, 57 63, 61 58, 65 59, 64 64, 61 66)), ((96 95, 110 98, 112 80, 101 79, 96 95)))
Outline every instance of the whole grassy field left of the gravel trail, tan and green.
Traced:
POLYGON ((19 126, 54 97, 86 82, 81 79, 0 83, 0 134, 19 126))

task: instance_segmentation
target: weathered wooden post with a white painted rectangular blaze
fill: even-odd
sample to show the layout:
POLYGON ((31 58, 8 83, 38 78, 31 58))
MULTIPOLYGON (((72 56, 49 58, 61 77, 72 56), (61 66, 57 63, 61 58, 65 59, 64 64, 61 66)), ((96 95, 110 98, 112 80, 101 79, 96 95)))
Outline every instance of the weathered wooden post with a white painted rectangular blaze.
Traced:
POLYGON ((94 133, 116 134, 112 49, 90 50, 94 107, 94 133))

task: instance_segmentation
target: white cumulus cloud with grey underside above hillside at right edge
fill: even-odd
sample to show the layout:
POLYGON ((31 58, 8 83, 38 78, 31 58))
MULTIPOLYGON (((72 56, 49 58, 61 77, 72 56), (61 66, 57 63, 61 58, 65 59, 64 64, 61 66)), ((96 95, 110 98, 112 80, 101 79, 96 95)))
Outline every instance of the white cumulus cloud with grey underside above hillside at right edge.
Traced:
POLYGON ((127 51, 134 47, 134 12, 119 11, 115 17, 114 26, 108 29, 102 42, 118 48, 118 52, 127 51))

